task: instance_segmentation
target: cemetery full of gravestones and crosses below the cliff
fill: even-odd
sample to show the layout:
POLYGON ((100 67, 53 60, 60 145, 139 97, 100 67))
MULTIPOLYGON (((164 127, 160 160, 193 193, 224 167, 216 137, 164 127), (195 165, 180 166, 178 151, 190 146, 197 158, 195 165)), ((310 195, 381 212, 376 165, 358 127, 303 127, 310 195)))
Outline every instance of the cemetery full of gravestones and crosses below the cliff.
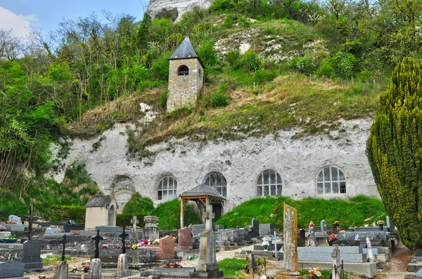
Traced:
MULTIPOLYGON (((115 208, 110 210, 115 206, 113 198, 96 198, 96 205, 107 210, 93 214, 92 206, 87 207, 87 215, 97 222, 89 229, 72 222, 40 222, 31 208, 28 222, 13 215, 0 222, 6 228, 0 238, 0 278, 41 278, 37 276, 44 273, 54 273, 54 278, 224 278, 217 256, 231 251, 232 257, 248 260, 251 275, 269 272, 276 278, 305 278, 303 273, 309 270, 330 271, 333 278, 340 278, 340 273, 374 278, 392 258, 399 240, 388 217, 383 228, 346 230, 321 220, 315 222, 319 226, 309 221, 306 229, 299 229, 298 210, 286 204, 283 231, 257 219, 243 228, 215 225, 210 204, 203 214, 205 224, 168 231, 160 229, 158 217, 146 216, 141 228, 134 216, 131 226, 119 227, 110 224, 116 214, 115 208), (65 230, 65 226, 77 229, 65 230), (7 243, 8 235, 15 235, 16 242, 7 243), (41 255, 61 257, 61 261, 46 268, 41 255), (66 257, 79 261, 72 266, 66 257), (264 271, 257 259, 264 261, 264 271)), ((409 271, 422 268, 421 256, 411 257, 409 271)))

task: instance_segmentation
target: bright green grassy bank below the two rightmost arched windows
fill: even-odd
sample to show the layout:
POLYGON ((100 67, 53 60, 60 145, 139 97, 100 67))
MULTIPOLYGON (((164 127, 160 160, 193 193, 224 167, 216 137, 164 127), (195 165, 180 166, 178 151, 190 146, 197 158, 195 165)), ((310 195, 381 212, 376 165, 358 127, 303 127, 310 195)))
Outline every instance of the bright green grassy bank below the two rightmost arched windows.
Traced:
POLYGON ((323 198, 304 198, 293 200, 289 197, 253 198, 234 207, 215 224, 224 228, 236 228, 250 225, 252 219, 260 223, 273 223, 277 229, 283 229, 283 204, 286 203, 298 210, 298 227, 305 228, 309 221, 319 222, 323 219, 329 222, 340 221, 340 226, 364 226, 386 216, 383 203, 377 198, 356 196, 343 199, 325 200, 323 198))

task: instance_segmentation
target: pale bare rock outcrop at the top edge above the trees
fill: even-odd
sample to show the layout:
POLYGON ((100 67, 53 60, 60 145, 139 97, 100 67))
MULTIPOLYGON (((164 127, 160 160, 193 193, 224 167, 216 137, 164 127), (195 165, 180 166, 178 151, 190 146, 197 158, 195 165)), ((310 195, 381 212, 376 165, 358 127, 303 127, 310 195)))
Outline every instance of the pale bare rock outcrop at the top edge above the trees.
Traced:
POLYGON ((208 8, 213 0, 151 0, 148 5, 147 12, 151 15, 152 18, 164 9, 165 11, 171 11, 174 8, 177 8, 179 16, 176 21, 181 19, 181 15, 193 9, 193 7, 208 8))

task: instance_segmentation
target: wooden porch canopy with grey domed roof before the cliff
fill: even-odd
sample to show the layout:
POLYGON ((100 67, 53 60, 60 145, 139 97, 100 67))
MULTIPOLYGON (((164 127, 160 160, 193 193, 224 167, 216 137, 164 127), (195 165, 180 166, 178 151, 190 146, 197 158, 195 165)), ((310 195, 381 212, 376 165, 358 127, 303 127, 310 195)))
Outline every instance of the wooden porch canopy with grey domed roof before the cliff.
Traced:
POLYGON ((226 198, 220 195, 220 193, 215 189, 213 186, 200 184, 193 188, 190 191, 182 193, 180 196, 180 228, 184 227, 183 224, 183 212, 184 206, 188 203, 189 200, 193 200, 200 207, 200 203, 203 203, 204 207, 206 208, 207 205, 211 203, 219 203, 222 205, 224 210, 224 202, 226 198))

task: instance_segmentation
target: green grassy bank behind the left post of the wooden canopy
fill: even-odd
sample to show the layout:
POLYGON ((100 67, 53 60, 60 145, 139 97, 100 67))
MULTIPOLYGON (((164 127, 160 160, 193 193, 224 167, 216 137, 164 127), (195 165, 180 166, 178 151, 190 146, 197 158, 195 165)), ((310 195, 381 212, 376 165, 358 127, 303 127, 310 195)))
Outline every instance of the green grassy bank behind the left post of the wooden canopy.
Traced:
MULTIPOLYGON (((165 203, 160 203, 151 212, 151 215, 160 218, 159 227, 163 230, 180 229, 180 201, 169 200, 165 203)), ((190 203, 184 207, 184 225, 188 224, 202 224, 198 212, 190 203)))

